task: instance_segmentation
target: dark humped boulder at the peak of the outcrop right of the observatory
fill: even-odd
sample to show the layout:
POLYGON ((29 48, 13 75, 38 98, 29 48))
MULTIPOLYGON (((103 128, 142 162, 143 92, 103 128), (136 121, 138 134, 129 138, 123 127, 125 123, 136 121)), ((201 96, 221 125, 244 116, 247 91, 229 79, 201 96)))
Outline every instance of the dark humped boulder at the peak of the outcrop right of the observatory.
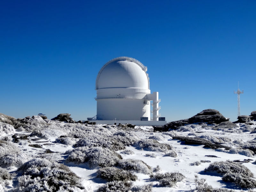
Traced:
POLYGON ((208 124, 220 124, 221 122, 228 121, 229 118, 224 117, 219 111, 215 109, 205 109, 200 113, 188 119, 190 124, 206 122, 208 124))

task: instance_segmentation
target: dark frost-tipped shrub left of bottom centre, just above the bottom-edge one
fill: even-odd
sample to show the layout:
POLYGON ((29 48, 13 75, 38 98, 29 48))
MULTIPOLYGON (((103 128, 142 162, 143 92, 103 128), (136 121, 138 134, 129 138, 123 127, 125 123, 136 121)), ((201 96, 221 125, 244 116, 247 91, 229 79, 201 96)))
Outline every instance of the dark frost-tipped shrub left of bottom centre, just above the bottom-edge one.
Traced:
POLYGON ((124 180, 137 180, 137 176, 129 171, 118 169, 116 167, 104 167, 97 171, 97 177, 106 179, 108 181, 124 181, 124 180))

